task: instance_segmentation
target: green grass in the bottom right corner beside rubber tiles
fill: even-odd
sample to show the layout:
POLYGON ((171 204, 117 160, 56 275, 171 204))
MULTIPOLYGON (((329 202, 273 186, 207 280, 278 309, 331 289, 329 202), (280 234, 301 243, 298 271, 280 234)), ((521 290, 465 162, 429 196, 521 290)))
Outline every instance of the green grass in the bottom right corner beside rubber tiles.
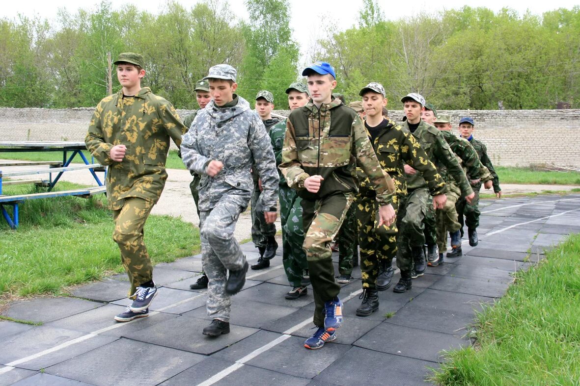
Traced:
POLYGON ((477 316, 476 344, 447 352, 440 385, 578 385, 580 235, 571 236, 477 316))

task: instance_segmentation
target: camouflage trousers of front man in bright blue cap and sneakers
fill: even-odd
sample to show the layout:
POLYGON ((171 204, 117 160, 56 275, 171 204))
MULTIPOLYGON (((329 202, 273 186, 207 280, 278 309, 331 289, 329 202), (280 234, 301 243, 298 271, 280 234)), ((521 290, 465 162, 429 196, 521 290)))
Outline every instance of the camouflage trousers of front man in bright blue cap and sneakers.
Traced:
POLYGON ((314 325, 318 327, 324 326, 324 302, 332 300, 340 292, 340 286, 334 281, 330 243, 345 220, 353 199, 353 194, 343 193, 316 201, 302 199, 302 219, 306 231, 304 249, 316 304, 314 325))

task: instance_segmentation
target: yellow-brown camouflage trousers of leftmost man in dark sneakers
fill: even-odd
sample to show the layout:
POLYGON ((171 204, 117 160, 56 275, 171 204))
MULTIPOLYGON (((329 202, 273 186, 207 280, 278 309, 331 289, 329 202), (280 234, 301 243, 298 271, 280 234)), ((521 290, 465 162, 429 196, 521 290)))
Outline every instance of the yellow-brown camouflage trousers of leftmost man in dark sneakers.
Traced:
POLYGON ((129 276, 129 296, 139 285, 153 280, 153 265, 143 243, 145 221, 153 205, 153 201, 131 197, 124 199, 118 209, 113 209, 113 240, 119 245, 121 263, 129 276))

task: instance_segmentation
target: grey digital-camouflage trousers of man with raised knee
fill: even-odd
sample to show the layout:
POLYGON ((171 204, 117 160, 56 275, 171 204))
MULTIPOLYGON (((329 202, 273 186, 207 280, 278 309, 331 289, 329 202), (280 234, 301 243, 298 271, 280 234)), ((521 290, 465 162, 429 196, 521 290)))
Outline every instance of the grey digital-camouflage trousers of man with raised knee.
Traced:
POLYGON ((235 223, 244 212, 244 199, 226 194, 211 210, 201 212, 201 260, 208 276, 206 307, 212 319, 229 322, 231 298, 226 293, 227 270, 244 268, 246 257, 234 238, 235 223))

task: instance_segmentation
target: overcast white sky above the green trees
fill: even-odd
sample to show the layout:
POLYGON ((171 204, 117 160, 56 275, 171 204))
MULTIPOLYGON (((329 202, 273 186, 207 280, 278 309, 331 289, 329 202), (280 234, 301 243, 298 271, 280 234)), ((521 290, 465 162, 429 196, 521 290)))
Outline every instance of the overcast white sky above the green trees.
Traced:
MULTIPOLYGON (((197 0, 178 0, 186 8, 193 6, 197 0)), ((21 13, 26 16, 39 15, 47 19, 56 17, 59 8, 66 8, 69 12, 74 13, 78 8, 96 8, 100 3, 99 0, 17 0, 7 1, 0 7, 0 17, 16 17, 21 13)), ((125 3, 135 3, 142 9, 146 9, 151 13, 157 13, 166 4, 165 0, 122 0, 113 2, 114 8, 121 8, 125 3)), ((242 0, 230 0, 230 7, 238 17, 247 18, 244 2, 242 0)), ((332 20, 338 30, 346 30, 353 24, 357 23, 358 10, 361 6, 361 1, 357 0, 331 0, 325 2, 327 4, 323 13, 317 12, 314 9, 309 9, 313 5, 319 5, 322 2, 316 0, 290 0, 291 3, 291 27, 293 38, 302 46, 303 57, 310 52, 311 47, 317 39, 325 38, 326 32, 321 27, 321 14, 324 14, 324 19, 332 20)), ((387 19, 396 20, 401 17, 413 16, 416 13, 425 11, 427 13, 436 13, 445 9, 458 9, 464 5, 472 7, 485 6, 494 12, 506 6, 505 0, 432 0, 432 1, 414 1, 414 0, 399 0, 387 1, 379 0, 380 8, 385 13, 387 19)), ((547 10, 557 8, 571 9, 579 2, 572 0, 550 0, 550 1, 529 1, 529 0, 512 0, 509 8, 515 9, 520 14, 530 10, 534 14, 542 14, 547 10)))

